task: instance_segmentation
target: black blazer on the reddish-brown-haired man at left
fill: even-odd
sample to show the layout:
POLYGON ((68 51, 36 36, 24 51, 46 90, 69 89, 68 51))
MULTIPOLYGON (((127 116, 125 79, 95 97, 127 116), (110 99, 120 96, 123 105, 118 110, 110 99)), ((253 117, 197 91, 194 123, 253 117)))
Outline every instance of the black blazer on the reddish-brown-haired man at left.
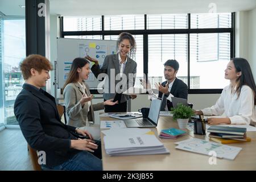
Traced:
POLYGON ((55 98, 44 90, 24 84, 15 100, 14 114, 27 143, 46 152, 47 166, 58 166, 79 152, 70 148, 71 139, 77 139, 71 133, 76 128, 61 122, 55 98))

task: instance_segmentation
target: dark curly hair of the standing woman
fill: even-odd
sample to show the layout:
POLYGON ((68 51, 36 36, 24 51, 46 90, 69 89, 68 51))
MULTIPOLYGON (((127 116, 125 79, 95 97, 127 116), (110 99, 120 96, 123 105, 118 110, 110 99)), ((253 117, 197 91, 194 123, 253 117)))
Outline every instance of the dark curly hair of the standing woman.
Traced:
POLYGON ((136 46, 136 41, 133 37, 133 35, 131 35, 130 33, 128 32, 122 32, 121 34, 119 34, 118 36, 118 43, 117 43, 117 49, 119 47, 119 44, 124 40, 124 39, 128 39, 130 44, 131 44, 131 50, 130 52, 128 53, 128 56, 131 58, 131 59, 134 59, 135 58, 135 53, 136 53, 136 49, 137 49, 137 46, 136 46))

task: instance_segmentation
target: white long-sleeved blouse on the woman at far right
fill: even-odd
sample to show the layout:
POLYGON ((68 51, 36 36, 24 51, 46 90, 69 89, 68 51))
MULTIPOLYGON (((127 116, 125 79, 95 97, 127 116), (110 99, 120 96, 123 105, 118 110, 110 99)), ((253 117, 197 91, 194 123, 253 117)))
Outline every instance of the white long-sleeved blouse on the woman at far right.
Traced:
POLYGON ((240 96, 237 98, 236 87, 226 86, 220 98, 212 107, 202 110, 204 115, 222 115, 228 117, 231 124, 246 124, 256 122, 253 90, 247 85, 241 88, 240 96))

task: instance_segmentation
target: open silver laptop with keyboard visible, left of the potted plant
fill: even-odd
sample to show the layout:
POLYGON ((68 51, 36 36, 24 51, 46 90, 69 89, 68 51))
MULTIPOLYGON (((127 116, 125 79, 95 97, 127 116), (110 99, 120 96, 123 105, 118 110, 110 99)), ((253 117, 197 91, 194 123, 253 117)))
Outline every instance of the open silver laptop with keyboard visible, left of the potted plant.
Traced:
POLYGON ((160 113, 162 100, 160 98, 151 101, 147 118, 125 119, 127 127, 156 127, 160 113))

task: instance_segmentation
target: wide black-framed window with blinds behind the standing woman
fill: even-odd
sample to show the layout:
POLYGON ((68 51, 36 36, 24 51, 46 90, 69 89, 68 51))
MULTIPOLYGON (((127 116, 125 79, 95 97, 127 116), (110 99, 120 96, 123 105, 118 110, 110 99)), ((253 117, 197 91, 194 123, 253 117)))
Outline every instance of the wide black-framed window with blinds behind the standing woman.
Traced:
POLYGON ((163 64, 168 59, 176 59, 180 64, 177 77, 186 84, 189 79, 189 89, 221 89, 226 85, 224 69, 230 56, 233 56, 230 54, 233 44, 230 42, 233 35, 232 13, 190 14, 190 21, 188 18, 189 14, 105 15, 73 19, 64 17, 63 32, 102 31, 104 36, 64 36, 106 40, 117 40, 117 32, 112 33, 112 30, 135 32, 133 36, 137 42, 137 53, 134 60, 138 64, 135 85, 138 87, 141 87, 139 78, 143 77, 143 70, 147 71, 154 88, 155 82, 164 81, 163 64), (104 18, 104 27, 101 27, 101 18, 104 18), (222 28, 223 32, 218 28, 222 28), (147 51, 143 49, 145 43, 147 51), (143 60, 144 55, 148 57, 147 60, 143 60), (145 63, 146 69, 143 68, 145 63))

